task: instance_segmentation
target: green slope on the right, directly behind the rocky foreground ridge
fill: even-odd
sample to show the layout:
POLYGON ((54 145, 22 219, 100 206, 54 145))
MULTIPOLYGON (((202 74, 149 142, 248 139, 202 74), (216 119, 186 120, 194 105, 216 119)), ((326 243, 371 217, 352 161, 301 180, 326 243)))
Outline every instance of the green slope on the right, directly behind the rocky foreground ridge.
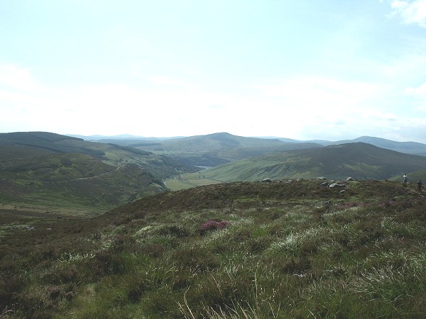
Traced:
POLYGON ((327 177, 388 179, 426 167, 426 157, 357 142, 244 159, 202 172, 206 179, 258 181, 327 177))

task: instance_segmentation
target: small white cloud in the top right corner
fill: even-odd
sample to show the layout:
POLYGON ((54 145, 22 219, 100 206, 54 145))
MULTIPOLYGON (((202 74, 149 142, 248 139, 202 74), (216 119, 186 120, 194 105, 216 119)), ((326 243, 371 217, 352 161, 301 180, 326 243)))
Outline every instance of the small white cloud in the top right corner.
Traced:
POLYGON ((394 0, 391 2, 391 7, 393 14, 403 18, 404 23, 414 23, 426 28, 426 0, 394 0))

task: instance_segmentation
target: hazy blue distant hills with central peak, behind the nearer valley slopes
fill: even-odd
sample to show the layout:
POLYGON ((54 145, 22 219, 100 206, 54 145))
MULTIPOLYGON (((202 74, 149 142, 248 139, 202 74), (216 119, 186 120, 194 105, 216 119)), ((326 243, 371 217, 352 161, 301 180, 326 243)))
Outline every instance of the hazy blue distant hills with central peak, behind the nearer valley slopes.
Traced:
MULTIPOLYGON (((89 137, 87 137, 89 138, 89 137)), ((185 138, 138 138, 117 136, 104 138, 99 142, 110 142, 139 150, 168 155, 186 164, 200 167, 214 167, 239 159, 259 157, 287 150, 301 150, 312 147, 364 142, 377 147, 411 155, 426 155, 426 145, 419 142, 396 142, 383 138, 363 136, 354 140, 293 140, 290 138, 244 138, 229 133, 214 133, 185 138)))

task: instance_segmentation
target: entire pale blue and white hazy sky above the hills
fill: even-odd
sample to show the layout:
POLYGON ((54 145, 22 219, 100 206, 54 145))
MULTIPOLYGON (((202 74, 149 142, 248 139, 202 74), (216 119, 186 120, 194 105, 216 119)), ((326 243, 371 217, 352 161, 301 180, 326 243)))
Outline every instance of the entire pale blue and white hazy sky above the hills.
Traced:
POLYGON ((426 143, 426 0, 0 0, 0 132, 426 143))

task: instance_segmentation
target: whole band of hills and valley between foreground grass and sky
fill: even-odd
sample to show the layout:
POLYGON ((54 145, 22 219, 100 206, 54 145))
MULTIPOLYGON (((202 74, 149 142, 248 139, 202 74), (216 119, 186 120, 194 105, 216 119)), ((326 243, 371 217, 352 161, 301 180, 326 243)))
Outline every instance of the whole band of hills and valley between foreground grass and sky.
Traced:
POLYGON ((46 132, 1 133, 0 202, 102 210, 166 191, 165 179, 185 174, 205 177, 206 183, 399 179, 405 173, 422 178, 426 145, 356 140, 300 142, 214 133, 165 140, 124 135, 93 142, 46 132))

